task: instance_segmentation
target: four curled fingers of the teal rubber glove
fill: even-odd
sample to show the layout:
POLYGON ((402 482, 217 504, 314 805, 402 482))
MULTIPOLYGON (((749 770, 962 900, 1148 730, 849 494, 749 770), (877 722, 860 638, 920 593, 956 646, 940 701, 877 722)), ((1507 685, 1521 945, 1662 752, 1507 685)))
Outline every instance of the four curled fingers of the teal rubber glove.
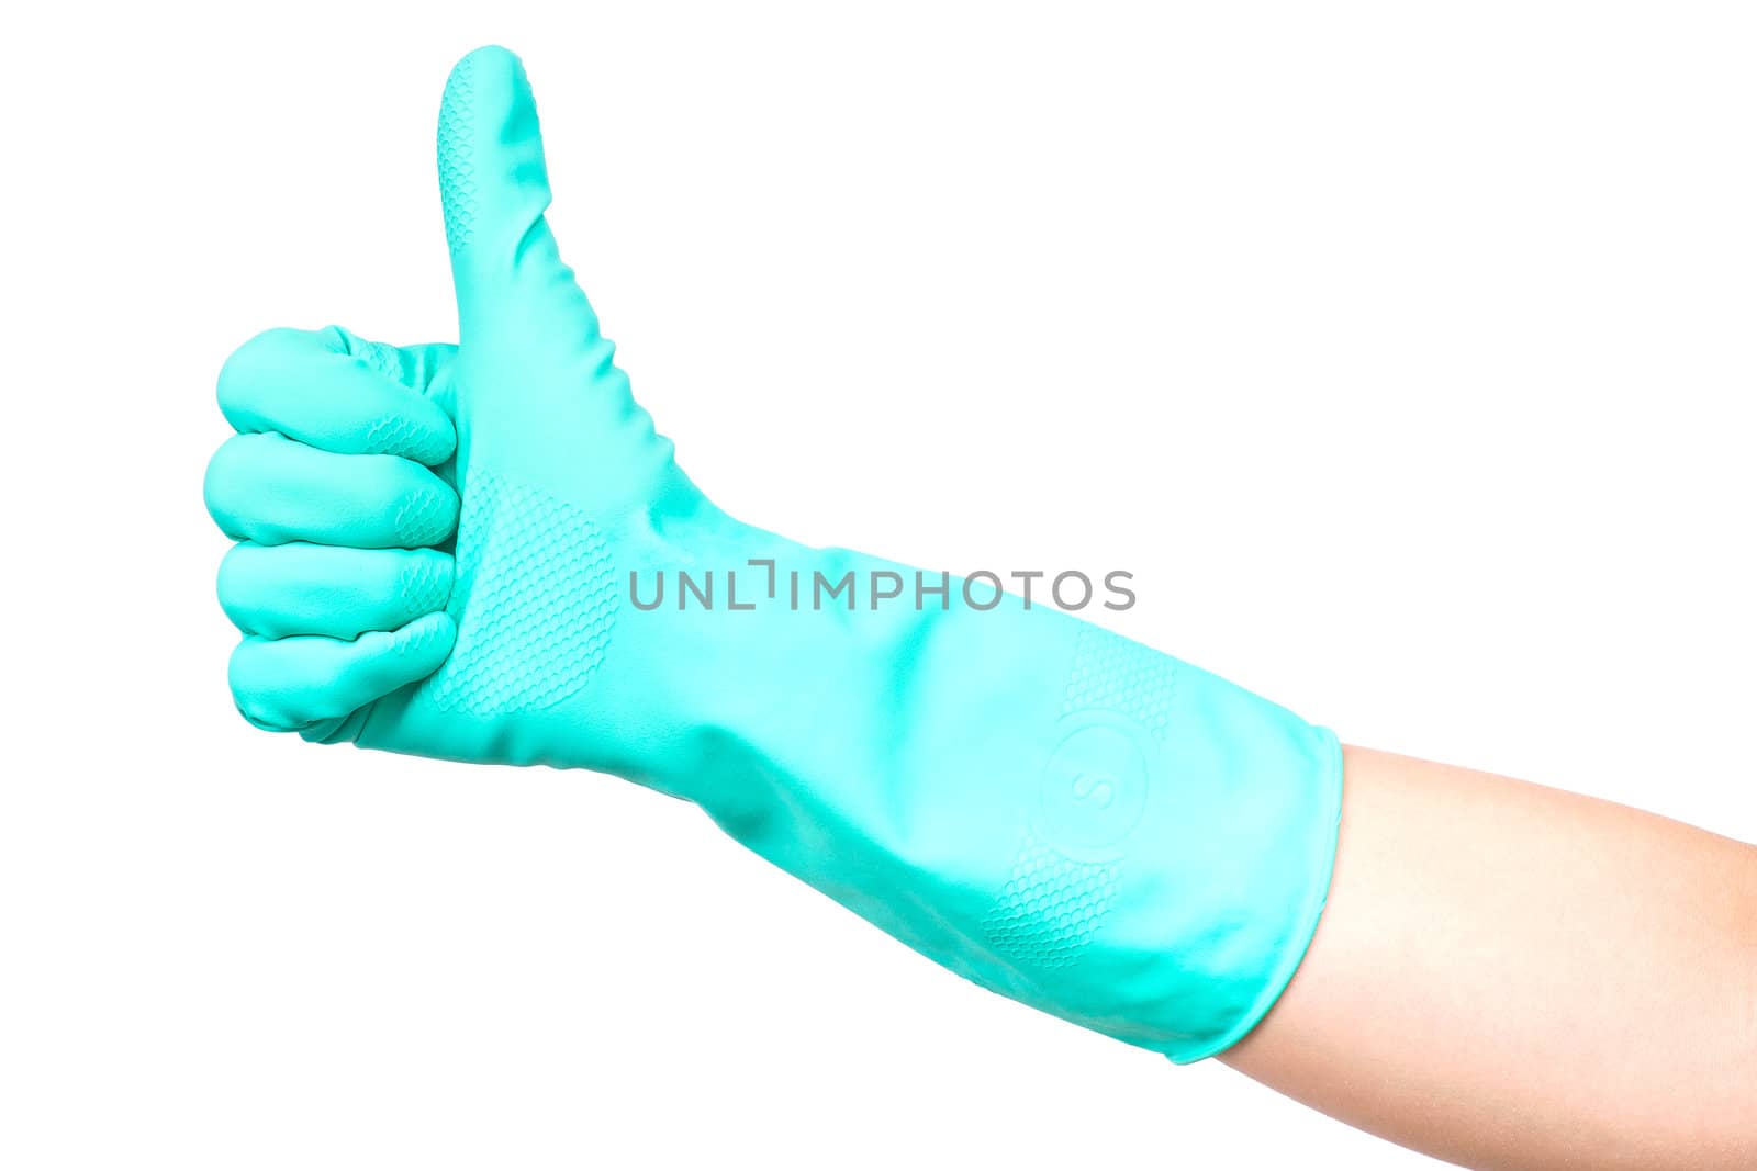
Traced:
POLYGON ((453 362, 452 346, 269 330, 220 372, 239 434, 206 497, 237 541, 220 604, 244 636, 230 683, 257 727, 322 737, 452 651, 453 362))

